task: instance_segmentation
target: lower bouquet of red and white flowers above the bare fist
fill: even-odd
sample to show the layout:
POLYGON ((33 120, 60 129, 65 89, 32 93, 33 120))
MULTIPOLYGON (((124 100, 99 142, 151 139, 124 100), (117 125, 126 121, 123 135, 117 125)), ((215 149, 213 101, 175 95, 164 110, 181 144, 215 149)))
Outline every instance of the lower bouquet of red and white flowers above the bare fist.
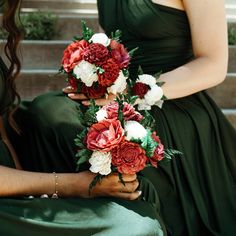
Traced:
POLYGON ((79 148, 76 161, 78 169, 86 162, 90 164, 90 171, 97 173, 90 190, 111 172, 118 172, 122 180, 122 174, 135 174, 147 166, 157 168, 159 162, 180 154, 164 149, 151 129, 151 115, 147 111, 145 115, 137 112, 132 105, 135 100, 136 97, 128 99, 128 95, 120 95, 101 108, 93 101, 88 110, 80 114, 85 129, 75 139, 79 148))

